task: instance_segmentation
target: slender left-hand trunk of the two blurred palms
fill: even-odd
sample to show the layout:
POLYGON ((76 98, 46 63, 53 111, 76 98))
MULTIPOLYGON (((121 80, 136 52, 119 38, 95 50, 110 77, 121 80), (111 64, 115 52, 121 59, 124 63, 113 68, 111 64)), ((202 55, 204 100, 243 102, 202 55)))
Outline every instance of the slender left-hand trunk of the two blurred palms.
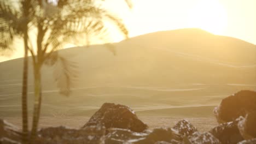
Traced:
POLYGON ((28 35, 27 30, 24 32, 24 64, 23 64, 23 76, 22 76, 22 143, 28 143, 28 118, 27 118, 27 75, 28 75, 28 35))

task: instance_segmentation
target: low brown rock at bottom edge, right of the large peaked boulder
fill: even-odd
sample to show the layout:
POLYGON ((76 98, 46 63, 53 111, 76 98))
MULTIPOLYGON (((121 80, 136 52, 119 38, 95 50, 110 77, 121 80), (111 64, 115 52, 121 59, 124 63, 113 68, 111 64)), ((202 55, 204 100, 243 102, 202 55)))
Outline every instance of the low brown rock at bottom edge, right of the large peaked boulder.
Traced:
POLYGON ((182 141, 181 135, 177 134, 171 128, 157 128, 154 129, 151 133, 149 133, 145 139, 135 141, 136 144, 147 144, 147 143, 155 143, 158 141, 171 142, 172 140, 182 141))

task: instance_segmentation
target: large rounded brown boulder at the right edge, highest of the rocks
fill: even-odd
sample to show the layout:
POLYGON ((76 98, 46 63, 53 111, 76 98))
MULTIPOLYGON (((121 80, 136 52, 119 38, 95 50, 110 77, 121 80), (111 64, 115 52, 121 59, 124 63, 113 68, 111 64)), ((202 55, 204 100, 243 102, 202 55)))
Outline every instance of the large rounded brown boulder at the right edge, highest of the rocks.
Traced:
POLYGON ((213 112, 219 123, 231 122, 246 116, 247 112, 256 111, 256 92, 240 91, 222 100, 213 112))

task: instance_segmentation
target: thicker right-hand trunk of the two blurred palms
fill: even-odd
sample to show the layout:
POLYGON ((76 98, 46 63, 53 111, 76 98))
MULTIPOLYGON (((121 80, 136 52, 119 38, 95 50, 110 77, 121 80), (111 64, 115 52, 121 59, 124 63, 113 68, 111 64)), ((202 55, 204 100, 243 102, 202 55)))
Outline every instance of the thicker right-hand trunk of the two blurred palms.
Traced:
POLYGON ((34 142, 37 136, 37 128, 40 117, 40 104, 41 104, 41 79, 40 79, 40 65, 34 64, 34 111, 33 111, 33 122, 31 130, 31 143, 34 142))

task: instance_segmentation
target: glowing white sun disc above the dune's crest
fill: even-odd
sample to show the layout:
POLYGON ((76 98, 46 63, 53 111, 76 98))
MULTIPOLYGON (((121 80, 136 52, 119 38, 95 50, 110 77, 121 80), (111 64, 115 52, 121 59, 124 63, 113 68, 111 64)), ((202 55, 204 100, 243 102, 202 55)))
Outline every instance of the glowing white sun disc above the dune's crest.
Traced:
POLYGON ((201 0, 189 13, 189 26, 222 35, 228 24, 226 10, 217 0, 201 0))

